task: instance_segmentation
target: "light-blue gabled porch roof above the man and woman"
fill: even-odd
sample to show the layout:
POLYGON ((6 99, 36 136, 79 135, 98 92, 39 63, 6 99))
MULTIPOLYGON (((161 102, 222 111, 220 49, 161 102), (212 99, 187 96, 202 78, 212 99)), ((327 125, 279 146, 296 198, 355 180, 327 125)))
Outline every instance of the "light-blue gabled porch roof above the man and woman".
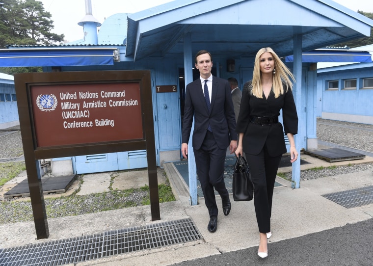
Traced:
POLYGON ((302 51, 312 51, 370 36, 371 27, 372 20, 331 0, 175 0, 128 16, 126 56, 180 56, 186 34, 193 53, 244 57, 271 47, 285 56, 293 54, 295 34, 302 51))

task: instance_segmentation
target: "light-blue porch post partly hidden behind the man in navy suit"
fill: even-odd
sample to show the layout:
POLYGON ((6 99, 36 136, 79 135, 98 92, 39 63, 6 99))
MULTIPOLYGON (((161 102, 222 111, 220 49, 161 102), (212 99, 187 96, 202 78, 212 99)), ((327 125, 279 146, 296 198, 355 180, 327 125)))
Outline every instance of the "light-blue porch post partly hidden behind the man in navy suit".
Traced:
MULTIPOLYGON (((184 75, 185 75, 185 87, 187 84, 193 81, 193 55, 192 55, 192 41, 191 34, 187 33, 184 36, 184 75)), ((189 175, 189 203, 190 205, 198 204, 197 194, 197 168, 195 166, 194 152, 192 146, 192 133, 194 129, 194 118, 192 129, 190 131, 190 137, 188 142, 188 175, 189 175)))

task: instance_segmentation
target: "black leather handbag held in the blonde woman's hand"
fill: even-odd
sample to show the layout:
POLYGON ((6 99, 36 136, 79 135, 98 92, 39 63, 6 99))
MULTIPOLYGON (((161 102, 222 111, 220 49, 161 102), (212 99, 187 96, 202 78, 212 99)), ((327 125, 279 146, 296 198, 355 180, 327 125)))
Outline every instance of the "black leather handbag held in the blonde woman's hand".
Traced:
POLYGON ((252 200, 254 195, 254 185, 250 178, 249 165, 241 155, 237 158, 235 170, 233 172, 233 200, 252 200))

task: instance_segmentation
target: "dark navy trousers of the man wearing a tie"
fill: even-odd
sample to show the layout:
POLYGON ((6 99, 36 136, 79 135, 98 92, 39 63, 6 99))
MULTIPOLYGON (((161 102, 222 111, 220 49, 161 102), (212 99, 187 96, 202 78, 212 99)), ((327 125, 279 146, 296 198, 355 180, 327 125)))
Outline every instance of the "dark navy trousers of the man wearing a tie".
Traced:
POLYGON ((210 217, 217 216, 215 192, 221 196, 223 204, 229 200, 228 190, 224 183, 224 160, 226 149, 219 149, 213 133, 207 132, 199 150, 193 149, 197 175, 201 183, 205 204, 210 217))

